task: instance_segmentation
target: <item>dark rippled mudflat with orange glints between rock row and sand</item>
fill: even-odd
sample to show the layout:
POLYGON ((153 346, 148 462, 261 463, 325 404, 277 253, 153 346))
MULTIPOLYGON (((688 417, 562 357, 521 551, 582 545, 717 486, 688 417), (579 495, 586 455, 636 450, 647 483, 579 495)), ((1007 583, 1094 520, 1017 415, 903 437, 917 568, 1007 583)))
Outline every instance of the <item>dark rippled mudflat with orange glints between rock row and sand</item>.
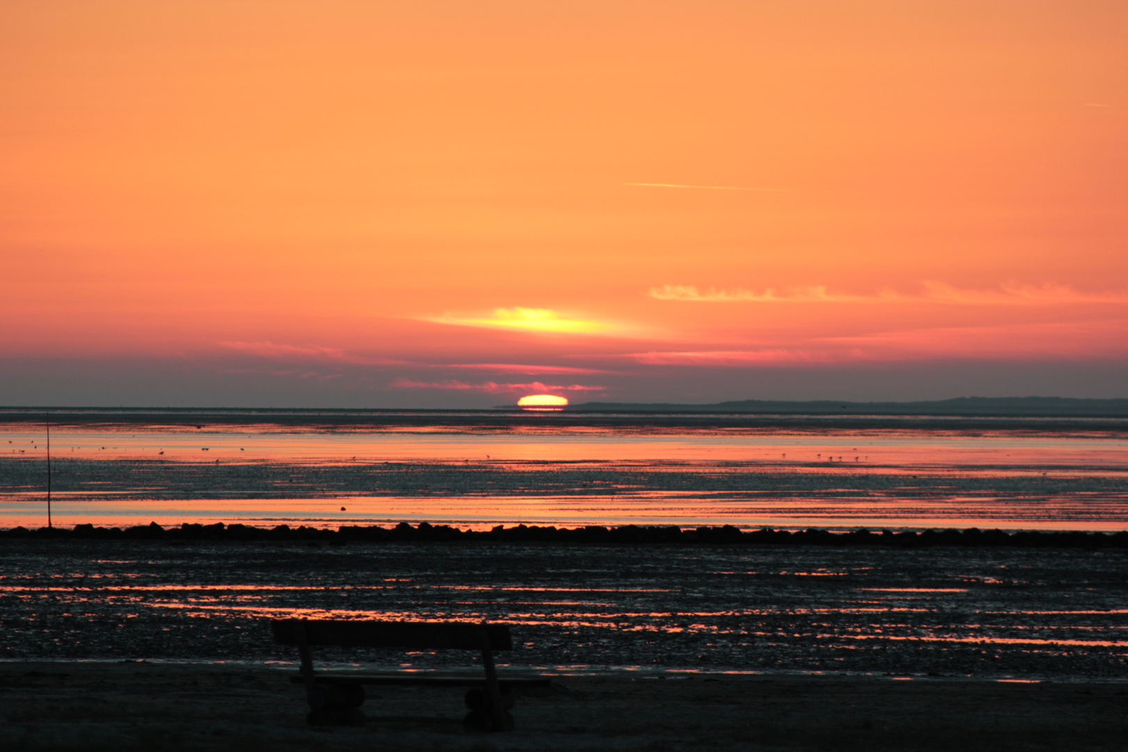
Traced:
POLYGON ((6 539, 0 657, 291 662, 267 619, 488 619, 521 670, 1120 681, 1126 574, 1123 549, 6 539))

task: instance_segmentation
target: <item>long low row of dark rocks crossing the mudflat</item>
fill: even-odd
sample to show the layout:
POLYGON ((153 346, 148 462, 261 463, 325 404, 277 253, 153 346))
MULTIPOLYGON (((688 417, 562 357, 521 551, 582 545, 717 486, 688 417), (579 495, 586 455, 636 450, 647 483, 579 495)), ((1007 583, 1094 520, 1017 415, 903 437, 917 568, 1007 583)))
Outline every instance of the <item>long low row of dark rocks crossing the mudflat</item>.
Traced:
POLYGON ((1017 531, 1002 530, 924 530, 871 532, 864 528, 835 533, 810 528, 808 530, 742 531, 734 525, 715 525, 682 530, 677 525, 623 525, 603 528, 556 528, 553 525, 497 525, 492 530, 460 530, 451 525, 432 525, 421 522, 412 527, 400 522, 394 528, 380 525, 341 525, 337 530, 287 524, 256 528, 239 523, 213 524, 184 523, 178 528, 164 528, 156 522, 131 528, 96 528, 78 524, 65 528, 11 528, 0 530, 0 541, 11 545, 17 540, 99 541, 135 540, 169 543, 192 542, 293 542, 311 546, 343 546, 347 543, 578 543, 578 545, 704 545, 704 546, 875 546, 918 548, 933 546, 1012 547, 1012 548, 1082 548, 1128 549, 1128 531, 1102 533, 1084 531, 1017 531))

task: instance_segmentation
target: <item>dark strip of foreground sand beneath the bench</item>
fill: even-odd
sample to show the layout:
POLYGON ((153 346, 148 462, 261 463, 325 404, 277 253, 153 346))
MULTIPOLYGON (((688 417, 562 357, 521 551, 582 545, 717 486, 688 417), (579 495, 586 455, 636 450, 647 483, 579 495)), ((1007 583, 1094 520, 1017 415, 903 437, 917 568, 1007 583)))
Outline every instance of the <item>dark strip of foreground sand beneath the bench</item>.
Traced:
POLYGON ((563 678, 517 729, 462 729, 461 695, 373 690, 361 727, 310 728, 262 665, 0 663, 0 750, 1123 750, 1128 683, 563 678))

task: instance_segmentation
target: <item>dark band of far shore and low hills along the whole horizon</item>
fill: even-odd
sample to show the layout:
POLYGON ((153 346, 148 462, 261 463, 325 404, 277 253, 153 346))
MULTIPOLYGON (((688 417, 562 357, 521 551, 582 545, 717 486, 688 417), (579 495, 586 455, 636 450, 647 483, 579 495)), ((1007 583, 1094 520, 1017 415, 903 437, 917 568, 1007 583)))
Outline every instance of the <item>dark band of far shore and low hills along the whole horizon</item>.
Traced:
POLYGON ((0 407, 0 426, 37 431, 315 431, 382 433, 441 427, 488 435, 526 428, 761 434, 869 431, 1011 432, 1015 435, 1128 436, 1128 399, 959 399, 938 402, 772 402, 646 405, 584 402, 557 412, 488 409, 0 407), (929 408, 929 406, 932 406, 929 408), (835 408, 835 409, 831 409, 835 408), (18 426, 18 427, 17 427, 18 426), (34 427, 33 427, 34 426, 34 427))

